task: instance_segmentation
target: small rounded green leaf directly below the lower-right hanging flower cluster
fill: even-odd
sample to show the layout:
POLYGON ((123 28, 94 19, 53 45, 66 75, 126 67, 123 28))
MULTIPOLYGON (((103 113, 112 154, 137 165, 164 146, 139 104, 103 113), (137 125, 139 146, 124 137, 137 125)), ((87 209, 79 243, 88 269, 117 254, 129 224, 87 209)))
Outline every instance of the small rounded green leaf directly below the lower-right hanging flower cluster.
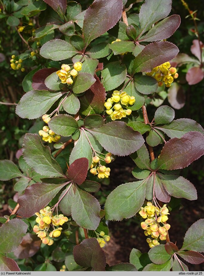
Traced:
POLYGON ((148 254, 150 260, 156 264, 166 263, 171 258, 171 255, 169 255, 166 252, 164 244, 159 244, 157 246, 152 247, 149 250, 148 254))

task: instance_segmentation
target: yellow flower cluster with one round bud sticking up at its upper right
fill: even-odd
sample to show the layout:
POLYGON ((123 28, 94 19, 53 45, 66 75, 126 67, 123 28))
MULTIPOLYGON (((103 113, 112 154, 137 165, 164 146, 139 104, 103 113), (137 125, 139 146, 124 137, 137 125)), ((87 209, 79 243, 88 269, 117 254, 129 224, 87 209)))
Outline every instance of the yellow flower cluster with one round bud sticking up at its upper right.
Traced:
POLYGON ((71 67, 67 64, 63 64, 61 66, 61 70, 58 70, 56 74, 61 79, 62 83, 67 83, 68 85, 71 85, 73 83, 73 79, 78 75, 78 71, 81 71, 82 63, 81 62, 75 62, 74 68, 71 70, 71 67))

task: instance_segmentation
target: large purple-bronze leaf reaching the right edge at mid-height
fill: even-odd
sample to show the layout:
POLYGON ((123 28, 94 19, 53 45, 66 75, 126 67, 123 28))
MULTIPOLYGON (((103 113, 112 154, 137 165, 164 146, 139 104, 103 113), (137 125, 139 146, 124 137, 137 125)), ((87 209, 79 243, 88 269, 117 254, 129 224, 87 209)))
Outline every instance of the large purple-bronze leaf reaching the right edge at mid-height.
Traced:
POLYGON ((204 136, 190 131, 180 139, 172 138, 163 146, 158 160, 158 168, 176 170, 188 167, 204 154, 204 136))

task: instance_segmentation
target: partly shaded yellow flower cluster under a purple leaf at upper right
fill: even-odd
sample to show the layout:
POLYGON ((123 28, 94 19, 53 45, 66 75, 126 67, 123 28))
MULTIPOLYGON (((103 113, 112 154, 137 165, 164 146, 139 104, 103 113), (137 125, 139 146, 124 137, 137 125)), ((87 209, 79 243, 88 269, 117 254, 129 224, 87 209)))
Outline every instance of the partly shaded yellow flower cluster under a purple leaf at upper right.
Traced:
POLYGON ((175 67, 171 67, 169 62, 165 62, 162 65, 159 65, 149 73, 146 73, 148 76, 153 76, 157 80, 158 86, 162 86, 163 83, 166 87, 170 87, 174 79, 177 79, 178 73, 175 67))

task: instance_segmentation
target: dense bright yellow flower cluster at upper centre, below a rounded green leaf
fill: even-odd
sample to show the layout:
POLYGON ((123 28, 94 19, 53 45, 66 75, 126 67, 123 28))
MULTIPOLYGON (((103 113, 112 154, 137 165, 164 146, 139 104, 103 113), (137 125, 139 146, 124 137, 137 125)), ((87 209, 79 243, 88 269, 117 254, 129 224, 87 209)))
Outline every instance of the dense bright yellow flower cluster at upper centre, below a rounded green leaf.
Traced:
POLYGON ((132 110, 123 108, 127 108, 128 105, 133 105, 134 103, 134 96, 129 96, 124 91, 120 93, 119 91, 115 90, 112 93, 112 97, 108 98, 104 103, 104 106, 106 107, 106 113, 111 116, 113 121, 115 121, 116 119, 121 119, 126 117, 126 115, 130 115, 132 110))

